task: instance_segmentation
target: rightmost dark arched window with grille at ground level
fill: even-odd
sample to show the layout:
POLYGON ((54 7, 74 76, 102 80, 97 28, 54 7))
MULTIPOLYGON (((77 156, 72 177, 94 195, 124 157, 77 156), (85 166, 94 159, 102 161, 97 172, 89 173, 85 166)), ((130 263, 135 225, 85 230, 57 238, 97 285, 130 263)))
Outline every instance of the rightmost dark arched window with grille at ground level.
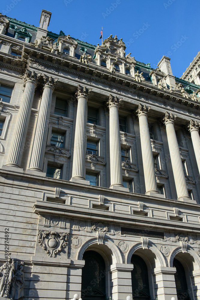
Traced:
POLYGON ((189 300, 187 289, 187 280, 185 276, 185 270, 181 262, 174 258, 173 267, 176 268, 176 273, 174 274, 176 283, 176 292, 178 300, 189 300))

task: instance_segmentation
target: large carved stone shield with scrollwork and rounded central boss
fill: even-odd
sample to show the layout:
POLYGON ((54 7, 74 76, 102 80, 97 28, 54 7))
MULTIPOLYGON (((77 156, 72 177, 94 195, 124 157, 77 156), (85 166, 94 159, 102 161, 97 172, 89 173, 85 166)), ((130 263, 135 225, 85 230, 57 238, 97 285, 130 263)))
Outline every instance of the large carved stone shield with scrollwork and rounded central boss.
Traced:
POLYGON ((68 233, 44 230, 39 230, 38 232, 38 243, 49 257, 55 257, 62 248, 65 248, 67 239, 68 233))

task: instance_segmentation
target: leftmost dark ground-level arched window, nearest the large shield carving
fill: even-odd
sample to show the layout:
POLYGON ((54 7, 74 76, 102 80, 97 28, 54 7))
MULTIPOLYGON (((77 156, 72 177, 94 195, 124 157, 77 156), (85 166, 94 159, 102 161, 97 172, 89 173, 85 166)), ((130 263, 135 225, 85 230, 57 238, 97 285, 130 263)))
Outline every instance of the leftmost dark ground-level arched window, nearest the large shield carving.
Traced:
POLYGON ((81 298, 84 300, 106 299, 106 272, 103 257, 95 251, 83 254, 81 298))

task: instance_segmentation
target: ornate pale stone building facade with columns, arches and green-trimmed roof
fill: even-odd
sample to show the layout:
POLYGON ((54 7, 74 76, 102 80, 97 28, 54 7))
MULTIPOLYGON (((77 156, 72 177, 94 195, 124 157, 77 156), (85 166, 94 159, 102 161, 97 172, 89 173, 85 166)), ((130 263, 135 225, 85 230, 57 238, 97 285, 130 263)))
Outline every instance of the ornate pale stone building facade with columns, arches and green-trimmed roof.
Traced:
POLYGON ((50 18, 0 15, 1 265, 24 262, 27 300, 197 300, 196 62, 180 79, 50 18))

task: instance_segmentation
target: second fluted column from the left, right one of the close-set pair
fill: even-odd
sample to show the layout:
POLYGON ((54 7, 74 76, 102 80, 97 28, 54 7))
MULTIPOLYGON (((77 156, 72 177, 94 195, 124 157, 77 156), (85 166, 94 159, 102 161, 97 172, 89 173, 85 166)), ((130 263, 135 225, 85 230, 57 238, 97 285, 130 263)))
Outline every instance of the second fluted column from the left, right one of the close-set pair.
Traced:
POLYGON ((53 79, 52 76, 50 76, 49 78, 44 76, 44 87, 40 108, 37 116, 37 125, 35 129, 29 170, 43 172, 43 162, 49 127, 51 99, 56 82, 57 80, 53 79))

